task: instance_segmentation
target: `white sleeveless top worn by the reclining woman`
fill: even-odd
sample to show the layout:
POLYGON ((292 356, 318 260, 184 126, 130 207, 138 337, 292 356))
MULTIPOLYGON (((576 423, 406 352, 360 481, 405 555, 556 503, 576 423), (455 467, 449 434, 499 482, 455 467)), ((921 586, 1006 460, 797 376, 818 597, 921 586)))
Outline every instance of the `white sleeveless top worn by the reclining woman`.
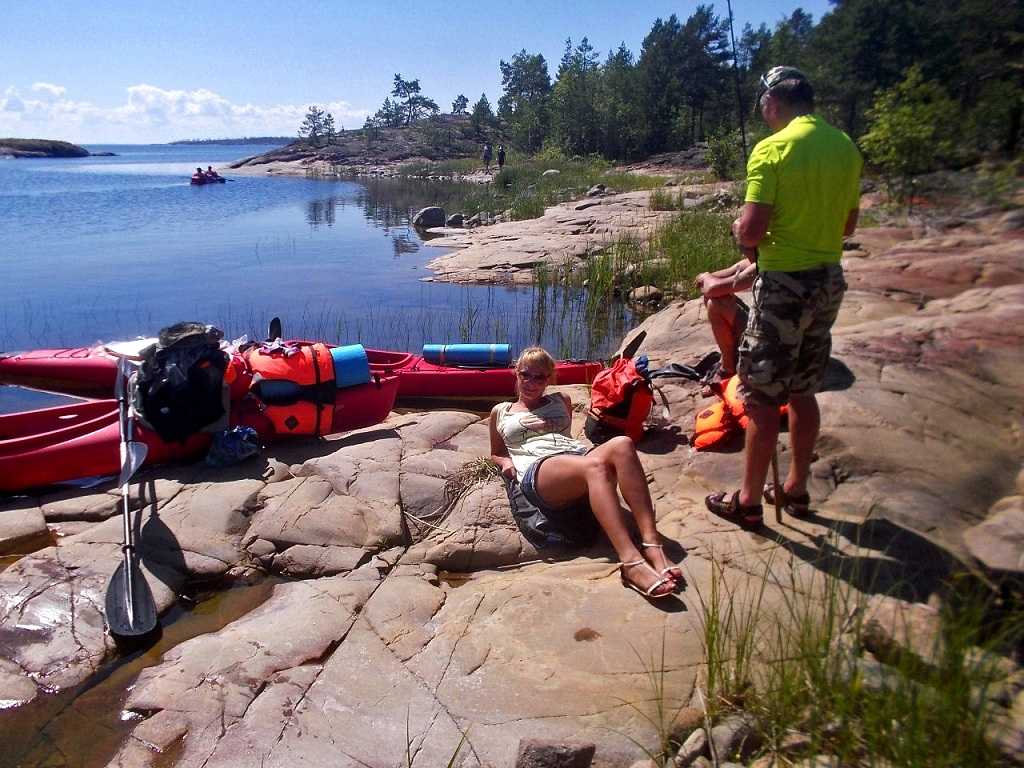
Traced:
POLYGON ((561 395, 545 395, 532 411, 512 411, 512 404, 503 402, 498 407, 497 426, 520 482, 529 466, 541 459, 587 450, 569 436, 572 416, 561 395))

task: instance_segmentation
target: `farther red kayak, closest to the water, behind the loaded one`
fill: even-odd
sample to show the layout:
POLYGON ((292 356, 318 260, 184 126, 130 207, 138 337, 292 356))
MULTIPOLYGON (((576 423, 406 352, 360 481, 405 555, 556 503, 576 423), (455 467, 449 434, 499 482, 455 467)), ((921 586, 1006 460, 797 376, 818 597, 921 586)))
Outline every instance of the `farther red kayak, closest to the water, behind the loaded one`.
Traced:
MULTIPOLYGON (((110 397, 117 377, 117 357, 106 346, 37 349, 0 353, 0 384, 49 392, 110 397)), ((398 377, 399 399, 489 399, 515 394, 513 368, 436 366, 411 352, 368 349, 371 372, 398 377)), ((559 384, 590 384, 603 368, 598 361, 561 360, 555 366, 559 384)))

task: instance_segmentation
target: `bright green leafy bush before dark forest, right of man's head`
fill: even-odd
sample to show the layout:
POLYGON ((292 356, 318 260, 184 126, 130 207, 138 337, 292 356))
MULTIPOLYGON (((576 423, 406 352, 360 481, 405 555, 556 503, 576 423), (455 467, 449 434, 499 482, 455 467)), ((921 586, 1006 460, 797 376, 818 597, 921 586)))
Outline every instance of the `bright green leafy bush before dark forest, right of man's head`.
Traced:
POLYGON ((902 82, 876 94, 867 117, 870 129, 860 138, 861 148, 897 201, 909 198, 914 176, 936 170, 952 155, 956 103, 939 83, 925 80, 916 65, 902 82))

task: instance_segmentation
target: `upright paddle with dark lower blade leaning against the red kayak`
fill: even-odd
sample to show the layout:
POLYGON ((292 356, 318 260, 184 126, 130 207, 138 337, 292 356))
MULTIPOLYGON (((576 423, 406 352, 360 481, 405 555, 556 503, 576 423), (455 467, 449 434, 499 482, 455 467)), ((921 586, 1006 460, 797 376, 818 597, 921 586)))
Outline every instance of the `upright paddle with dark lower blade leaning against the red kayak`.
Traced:
POLYGON ((150 585, 142 575, 135 557, 132 542, 131 516, 129 512, 129 481, 145 461, 146 445, 129 439, 132 436, 132 419, 129 413, 125 380, 129 376, 129 364, 118 359, 118 378, 115 392, 120 408, 121 427, 121 506, 124 517, 124 545, 121 547, 123 559, 106 585, 104 609, 106 627, 111 634, 122 637, 144 635, 157 626, 157 606, 153 600, 150 585))

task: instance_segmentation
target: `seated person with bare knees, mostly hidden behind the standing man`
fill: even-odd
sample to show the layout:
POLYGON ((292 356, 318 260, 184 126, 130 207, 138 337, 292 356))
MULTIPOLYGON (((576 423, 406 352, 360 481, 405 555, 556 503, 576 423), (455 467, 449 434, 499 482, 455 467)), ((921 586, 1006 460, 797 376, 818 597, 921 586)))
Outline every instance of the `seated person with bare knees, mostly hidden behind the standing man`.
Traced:
POLYGON ((749 290, 757 276, 757 254, 743 251, 743 258, 732 266, 715 272, 700 272, 694 281, 703 297, 711 332, 722 355, 718 378, 711 383, 712 391, 708 394, 720 390, 736 375, 739 342, 750 316, 750 307, 736 294, 749 290))

